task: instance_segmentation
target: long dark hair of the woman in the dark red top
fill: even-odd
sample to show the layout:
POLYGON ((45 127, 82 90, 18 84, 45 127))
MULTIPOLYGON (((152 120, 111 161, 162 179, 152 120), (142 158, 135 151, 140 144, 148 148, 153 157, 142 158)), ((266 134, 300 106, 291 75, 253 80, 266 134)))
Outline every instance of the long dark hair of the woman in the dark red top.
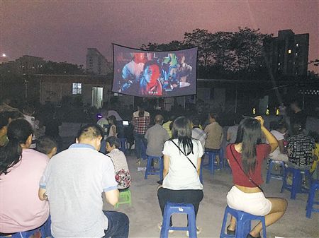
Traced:
POLYGON ((238 126, 235 143, 242 143, 242 169, 246 174, 256 168, 256 145, 262 143, 262 129, 257 119, 245 118, 238 126))

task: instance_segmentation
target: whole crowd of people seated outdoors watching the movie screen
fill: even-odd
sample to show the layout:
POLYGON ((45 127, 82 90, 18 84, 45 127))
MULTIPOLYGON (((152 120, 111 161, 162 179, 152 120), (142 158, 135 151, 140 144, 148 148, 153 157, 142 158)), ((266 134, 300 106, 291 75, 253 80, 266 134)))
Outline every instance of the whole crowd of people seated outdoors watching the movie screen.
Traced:
MULTIPOLYGON (((25 115, 11 109, 0 112, 0 236, 33 230, 50 221, 52 237, 128 237, 128 216, 102 210, 103 197, 115 206, 120 192, 131 185, 117 117, 103 112, 97 124, 82 126, 75 143, 61 151, 53 137, 38 136, 35 140, 31 111, 27 108, 25 115)), ((209 113, 207 119, 201 124, 198 117, 172 116, 163 124, 164 117, 146 112, 145 105, 133 113, 138 162, 147 156, 162 157, 164 179, 157 189, 162 215, 168 201, 191 203, 195 215, 198 213, 203 199, 199 178, 203 155, 222 150, 224 136, 218 114, 209 113)), ((318 134, 303 134, 298 120, 291 125, 289 136, 289 126, 283 121, 272 122, 270 131, 259 116, 236 118, 234 124, 225 136, 225 157, 233 174, 233 186, 225 194, 228 206, 264 216, 266 225, 272 225, 286 212, 287 201, 264 195, 260 188, 263 161, 280 160, 287 167, 315 174, 318 134)), ((217 163, 222 159, 217 156, 217 163)), ((162 228, 162 222, 158 227, 162 228)), ((235 228, 232 217, 227 233, 235 234, 235 228)), ((260 237, 261 230, 258 223, 247 237, 260 237)), ((196 232, 199 234, 201 228, 196 227, 196 232)))

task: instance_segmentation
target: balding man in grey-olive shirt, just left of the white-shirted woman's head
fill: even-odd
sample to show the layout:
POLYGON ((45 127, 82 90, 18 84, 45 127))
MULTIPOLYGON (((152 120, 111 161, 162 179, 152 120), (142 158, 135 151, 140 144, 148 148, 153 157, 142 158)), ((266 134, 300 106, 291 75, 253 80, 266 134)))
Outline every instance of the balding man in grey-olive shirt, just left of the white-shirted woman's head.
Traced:
POLYGON ((155 125, 147 129, 145 139, 147 140, 146 155, 162 156, 162 150, 165 141, 169 139, 167 131, 163 128, 164 117, 157 114, 155 116, 155 125))

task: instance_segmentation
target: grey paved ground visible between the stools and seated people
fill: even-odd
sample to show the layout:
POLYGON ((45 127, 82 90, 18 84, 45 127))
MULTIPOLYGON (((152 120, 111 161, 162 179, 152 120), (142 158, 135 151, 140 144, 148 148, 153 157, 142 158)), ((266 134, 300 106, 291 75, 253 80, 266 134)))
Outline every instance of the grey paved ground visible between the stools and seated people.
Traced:
MULTIPOLYGON (((117 210, 126 213, 130 218, 129 237, 159 237, 157 223, 162 221, 162 215, 157 201, 157 176, 144 179, 144 172, 138 172, 135 156, 128 156, 128 164, 133 177, 130 188, 132 206, 123 205, 117 210)), ((145 166, 145 162, 141 166, 145 166)), ((265 174, 265 171, 264 171, 265 174)), ((264 176, 265 177, 265 176, 264 176)), ((211 177, 208 171, 203 172, 204 198, 198 211, 197 225, 202 228, 198 237, 219 237, 223 213, 226 206, 226 194, 232 186, 231 174, 226 171, 216 172, 211 177)), ((267 237, 319 237, 319 213, 313 213, 312 218, 306 218, 306 194, 298 194, 296 200, 291 200, 288 191, 280 194, 281 182, 271 180, 263 186, 266 196, 283 197, 289 201, 288 210, 279 222, 267 227, 267 237)), ((105 210, 113 210, 109 204, 105 210)), ((186 218, 179 216, 173 219, 176 224, 184 224, 186 218)), ((174 232, 169 237, 186 237, 185 232, 174 232)))

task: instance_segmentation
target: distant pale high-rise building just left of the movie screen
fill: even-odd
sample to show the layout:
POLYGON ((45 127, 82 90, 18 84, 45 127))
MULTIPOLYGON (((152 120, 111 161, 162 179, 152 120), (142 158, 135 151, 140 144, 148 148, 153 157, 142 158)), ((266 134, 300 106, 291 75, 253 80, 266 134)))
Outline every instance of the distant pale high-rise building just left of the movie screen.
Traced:
POLYGON ((96 48, 87 48, 86 52, 86 70, 99 75, 109 73, 108 61, 103 54, 96 48))

